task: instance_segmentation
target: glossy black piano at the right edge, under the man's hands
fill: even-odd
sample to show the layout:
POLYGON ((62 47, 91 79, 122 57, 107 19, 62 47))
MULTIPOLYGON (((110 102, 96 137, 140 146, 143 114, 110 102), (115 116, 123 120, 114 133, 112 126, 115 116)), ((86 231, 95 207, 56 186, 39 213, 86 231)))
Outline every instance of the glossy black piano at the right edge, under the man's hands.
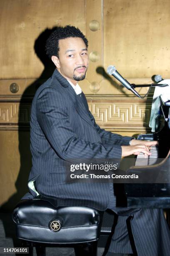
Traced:
MULTIPOLYGON (((170 95, 169 95, 170 96, 170 95)), ((147 158, 141 153, 136 157, 135 166, 127 174, 139 174, 144 182, 126 183, 125 195, 130 208, 170 208, 170 97, 160 98, 158 130, 153 134, 141 134, 140 140, 157 140, 159 146, 151 149, 147 158), (152 183, 150 182, 152 180, 152 183)))

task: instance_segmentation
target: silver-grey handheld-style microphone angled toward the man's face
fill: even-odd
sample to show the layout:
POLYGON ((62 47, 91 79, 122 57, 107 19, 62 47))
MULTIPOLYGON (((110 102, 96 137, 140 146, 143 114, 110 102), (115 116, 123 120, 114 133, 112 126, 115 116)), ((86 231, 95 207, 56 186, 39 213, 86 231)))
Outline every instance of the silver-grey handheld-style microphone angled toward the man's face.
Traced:
POLYGON ((133 88, 133 85, 130 84, 127 80, 125 80, 120 74, 119 72, 117 72, 116 68, 114 66, 109 66, 107 67, 107 73, 112 75, 113 77, 115 77, 119 82, 122 83, 123 86, 125 86, 128 90, 130 90, 131 92, 133 92, 136 96, 138 96, 139 98, 140 95, 138 94, 138 92, 136 92, 133 88))

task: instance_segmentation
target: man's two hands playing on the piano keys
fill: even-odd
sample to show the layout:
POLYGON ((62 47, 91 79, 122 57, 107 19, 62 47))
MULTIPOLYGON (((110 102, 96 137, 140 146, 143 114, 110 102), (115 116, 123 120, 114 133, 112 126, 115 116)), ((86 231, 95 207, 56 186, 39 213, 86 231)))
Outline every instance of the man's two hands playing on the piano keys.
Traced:
POLYGON ((151 146, 155 145, 158 145, 158 141, 132 140, 130 146, 122 146, 122 156, 139 155, 140 152, 145 156, 150 156, 151 146))

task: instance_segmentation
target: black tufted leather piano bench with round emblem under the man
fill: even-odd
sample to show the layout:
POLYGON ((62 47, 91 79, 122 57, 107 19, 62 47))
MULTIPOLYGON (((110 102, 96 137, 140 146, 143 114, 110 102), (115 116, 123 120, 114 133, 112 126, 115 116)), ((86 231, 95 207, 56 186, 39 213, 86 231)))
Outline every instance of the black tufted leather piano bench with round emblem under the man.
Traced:
POLYGON ((103 212, 90 207, 54 207, 40 199, 21 200, 13 211, 16 236, 45 256, 46 246, 74 247, 76 256, 97 256, 103 212))

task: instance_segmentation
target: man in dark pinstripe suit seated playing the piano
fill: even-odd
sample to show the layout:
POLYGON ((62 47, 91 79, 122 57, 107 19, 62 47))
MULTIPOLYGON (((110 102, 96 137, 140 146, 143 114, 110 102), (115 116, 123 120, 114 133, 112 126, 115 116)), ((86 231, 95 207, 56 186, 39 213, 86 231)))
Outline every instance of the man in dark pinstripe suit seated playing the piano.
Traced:
POLYGON ((46 50, 55 64, 52 77, 42 84, 32 101, 30 140, 32 169, 29 183, 36 189, 23 199, 38 194, 53 197, 57 206, 83 205, 111 209, 118 215, 107 256, 133 253, 127 220, 131 218, 138 256, 169 256, 170 230, 161 209, 116 207, 110 182, 72 182, 64 179, 67 159, 121 159, 143 152, 157 141, 140 141, 101 129, 88 109, 77 81, 85 79, 88 41, 73 26, 58 27, 47 40, 46 50))

